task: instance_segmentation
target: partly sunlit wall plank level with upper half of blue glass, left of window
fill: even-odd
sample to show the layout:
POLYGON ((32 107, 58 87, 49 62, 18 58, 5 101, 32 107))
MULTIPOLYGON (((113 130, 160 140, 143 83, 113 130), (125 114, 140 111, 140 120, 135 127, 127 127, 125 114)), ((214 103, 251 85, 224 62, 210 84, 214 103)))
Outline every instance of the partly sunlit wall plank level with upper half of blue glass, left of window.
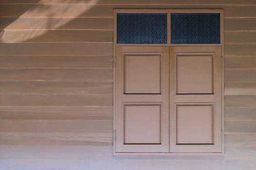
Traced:
POLYGON ((0 17, 0 30, 113 30, 108 17, 0 17))

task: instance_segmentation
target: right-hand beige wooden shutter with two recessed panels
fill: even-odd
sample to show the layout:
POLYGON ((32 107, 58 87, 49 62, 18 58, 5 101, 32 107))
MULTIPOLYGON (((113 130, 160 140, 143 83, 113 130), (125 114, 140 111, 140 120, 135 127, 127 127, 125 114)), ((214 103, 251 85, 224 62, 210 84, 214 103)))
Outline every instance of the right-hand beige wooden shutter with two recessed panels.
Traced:
POLYGON ((221 47, 170 49, 170 152, 221 153, 221 47))

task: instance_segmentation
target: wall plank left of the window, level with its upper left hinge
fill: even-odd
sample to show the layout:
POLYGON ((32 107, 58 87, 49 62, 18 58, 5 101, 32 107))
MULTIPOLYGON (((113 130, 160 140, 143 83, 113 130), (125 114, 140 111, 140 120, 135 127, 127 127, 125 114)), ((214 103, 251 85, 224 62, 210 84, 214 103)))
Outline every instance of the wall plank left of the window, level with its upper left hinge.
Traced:
POLYGON ((0 56, 0 68, 113 68, 113 56, 0 56))

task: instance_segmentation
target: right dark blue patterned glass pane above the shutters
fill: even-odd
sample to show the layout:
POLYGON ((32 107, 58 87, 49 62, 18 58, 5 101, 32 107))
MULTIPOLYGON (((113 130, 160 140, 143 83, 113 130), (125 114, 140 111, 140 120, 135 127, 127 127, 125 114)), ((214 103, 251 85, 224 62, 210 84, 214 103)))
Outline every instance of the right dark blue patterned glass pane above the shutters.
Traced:
POLYGON ((171 13, 171 43, 220 44, 219 13, 171 13))

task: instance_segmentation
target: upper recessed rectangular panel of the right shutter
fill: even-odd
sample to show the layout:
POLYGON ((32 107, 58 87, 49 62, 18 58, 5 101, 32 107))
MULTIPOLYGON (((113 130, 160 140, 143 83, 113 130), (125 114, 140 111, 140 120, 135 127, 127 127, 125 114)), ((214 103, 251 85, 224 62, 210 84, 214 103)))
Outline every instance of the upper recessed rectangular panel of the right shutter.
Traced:
POLYGON ((213 94, 213 55, 176 55, 177 94, 213 94))

